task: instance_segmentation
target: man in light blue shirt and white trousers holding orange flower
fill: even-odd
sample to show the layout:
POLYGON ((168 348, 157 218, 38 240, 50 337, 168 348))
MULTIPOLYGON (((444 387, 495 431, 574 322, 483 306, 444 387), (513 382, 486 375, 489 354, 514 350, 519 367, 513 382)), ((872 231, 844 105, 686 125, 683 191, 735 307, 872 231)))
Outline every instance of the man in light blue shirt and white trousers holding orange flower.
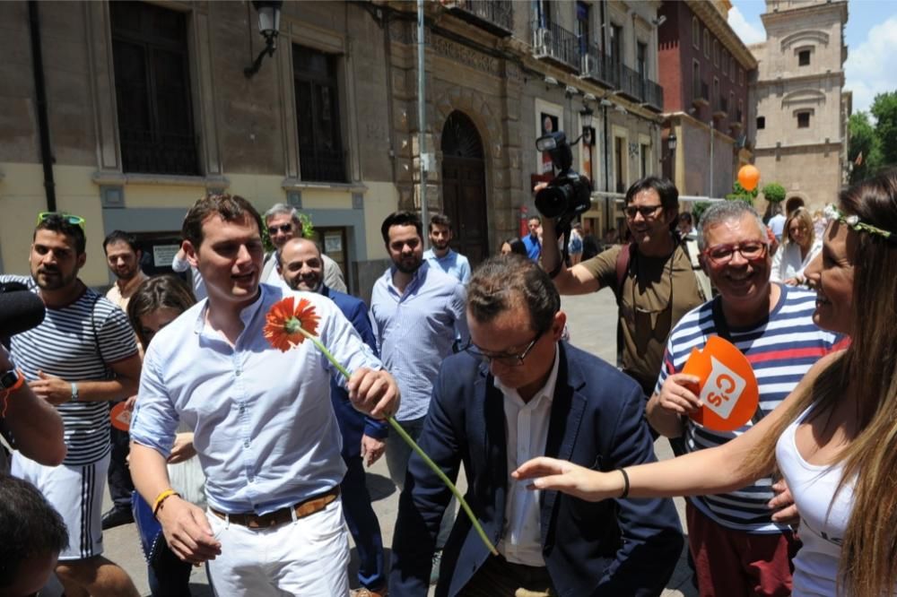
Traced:
POLYGON ((146 352, 131 423, 135 487, 172 551, 208 562, 216 593, 347 594, 338 490, 345 466, 330 379, 374 417, 396 410, 396 382, 333 302, 259 284, 261 218, 245 199, 205 196, 182 232, 208 299, 162 329, 146 352), (350 379, 311 342, 286 351, 268 343, 266 316, 288 296, 314 307, 318 338, 353 371, 350 379), (194 430, 207 512, 170 487, 165 462, 181 421, 194 430))

